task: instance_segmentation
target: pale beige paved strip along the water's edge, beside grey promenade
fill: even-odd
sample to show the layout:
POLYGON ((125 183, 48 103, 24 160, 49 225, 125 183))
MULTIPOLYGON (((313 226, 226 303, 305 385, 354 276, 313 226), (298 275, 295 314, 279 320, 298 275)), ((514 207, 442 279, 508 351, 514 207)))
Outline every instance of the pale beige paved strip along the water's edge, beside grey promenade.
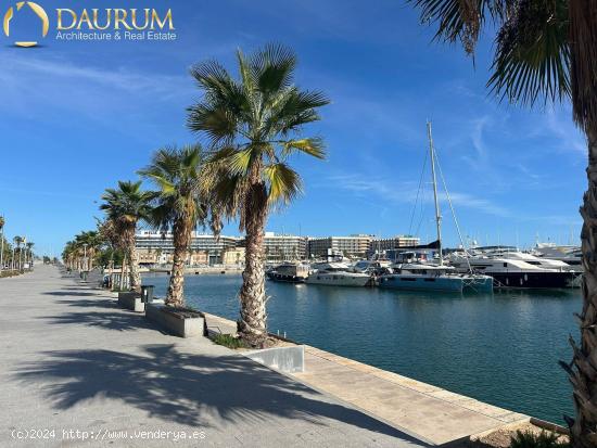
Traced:
MULTIPOLYGON (((234 322, 207 315, 208 328, 233 333, 234 322)), ((292 377, 330 394, 430 445, 466 440, 528 415, 305 346, 305 372, 292 377)))

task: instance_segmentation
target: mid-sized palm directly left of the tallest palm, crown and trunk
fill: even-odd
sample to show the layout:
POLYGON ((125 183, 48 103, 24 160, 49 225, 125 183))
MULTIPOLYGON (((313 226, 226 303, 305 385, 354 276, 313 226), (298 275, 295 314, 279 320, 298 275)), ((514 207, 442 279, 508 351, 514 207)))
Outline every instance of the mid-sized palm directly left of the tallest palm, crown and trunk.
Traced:
POLYGON ((199 145, 166 148, 157 151, 151 164, 139 171, 158 189, 151 223, 163 232, 172 228, 174 233, 173 268, 166 296, 169 306, 185 305, 185 263, 192 231, 198 225, 205 226, 209 212, 208 201, 201 189, 202 161, 199 145))

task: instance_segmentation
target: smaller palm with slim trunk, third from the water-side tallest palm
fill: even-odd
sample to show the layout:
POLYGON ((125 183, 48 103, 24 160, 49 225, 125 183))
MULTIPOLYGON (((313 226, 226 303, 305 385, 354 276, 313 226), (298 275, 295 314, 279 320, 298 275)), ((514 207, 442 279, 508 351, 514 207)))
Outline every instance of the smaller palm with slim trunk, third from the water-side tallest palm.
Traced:
POLYGON ((105 190, 102 195, 104 203, 100 205, 100 209, 105 212, 120 234, 128 261, 130 289, 136 292, 141 291, 141 276, 135 249, 135 233, 137 223, 149 219, 152 199, 153 193, 141 190, 141 181, 118 181, 117 189, 105 190))

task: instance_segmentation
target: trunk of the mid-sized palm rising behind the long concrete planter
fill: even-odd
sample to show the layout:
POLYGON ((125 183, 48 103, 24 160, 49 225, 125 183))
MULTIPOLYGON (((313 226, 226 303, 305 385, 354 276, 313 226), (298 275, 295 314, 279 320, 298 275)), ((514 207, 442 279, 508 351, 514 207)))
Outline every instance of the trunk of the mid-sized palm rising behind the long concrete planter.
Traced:
POLYGON ((165 304, 174 307, 185 305, 185 261, 191 244, 192 223, 181 218, 174 225, 174 256, 165 304))

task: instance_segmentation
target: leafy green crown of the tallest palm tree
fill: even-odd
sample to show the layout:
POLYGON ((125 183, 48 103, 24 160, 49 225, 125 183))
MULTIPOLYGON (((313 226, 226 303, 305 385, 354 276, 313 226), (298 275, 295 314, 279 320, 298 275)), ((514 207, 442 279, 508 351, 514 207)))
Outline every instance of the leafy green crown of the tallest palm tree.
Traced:
POLYGON ((239 80, 215 63, 194 66, 203 97, 188 108, 187 125, 211 143, 201 191, 213 199, 216 228, 221 218, 238 217, 243 230, 252 213, 266 213, 255 207, 288 204, 301 192, 298 175, 285 164, 290 154, 325 156, 322 140, 302 130, 320 119, 317 110, 329 100, 293 85, 296 56, 285 47, 239 50, 237 62, 239 80))

